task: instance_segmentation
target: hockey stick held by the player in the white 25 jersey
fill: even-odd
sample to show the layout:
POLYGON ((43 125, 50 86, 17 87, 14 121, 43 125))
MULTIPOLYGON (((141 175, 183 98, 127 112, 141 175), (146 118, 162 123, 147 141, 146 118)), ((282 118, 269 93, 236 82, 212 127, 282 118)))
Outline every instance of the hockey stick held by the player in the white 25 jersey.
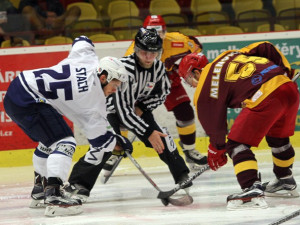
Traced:
MULTIPOLYGON (((138 162, 130 155, 129 152, 125 151, 127 157, 131 160, 133 165, 135 165, 136 168, 144 175, 144 177, 152 184, 152 186, 159 192, 161 192, 160 188, 157 186, 157 184, 148 176, 148 174, 143 170, 143 168, 138 164, 138 162)), ((193 203, 193 198, 189 195, 185 195, 178 199, 172 199, 169 197, 162 198, 161 199, 164 206, 167 206, 169 203, 175 206, 186 206, 193 203)))

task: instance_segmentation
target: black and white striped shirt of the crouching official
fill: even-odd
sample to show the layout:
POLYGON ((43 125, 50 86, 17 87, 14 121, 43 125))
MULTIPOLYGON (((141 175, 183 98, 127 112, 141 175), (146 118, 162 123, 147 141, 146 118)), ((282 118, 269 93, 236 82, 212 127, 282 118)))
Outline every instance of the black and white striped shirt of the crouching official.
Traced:
POLYGON ((135 106, 152 111, 163 104, 170 93, 170 81, 163 63, 155 60, 150 69, 142 68, 135 53, 120 59, 128 71, 128 84, 107 99, 108 113, 117 113, 127 129, 149 137, 152 128, 135 114, 135 106))

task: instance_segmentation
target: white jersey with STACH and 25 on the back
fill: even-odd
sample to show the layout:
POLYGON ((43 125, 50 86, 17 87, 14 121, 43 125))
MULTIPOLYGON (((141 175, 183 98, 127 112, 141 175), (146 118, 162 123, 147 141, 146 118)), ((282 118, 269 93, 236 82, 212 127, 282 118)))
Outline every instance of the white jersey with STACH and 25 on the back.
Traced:
MULTIPOLYGON (((113 130, 106 119, 106 98, 96 72, 98 64, 93 43, 81 36, 73 42, 69 56, 57 65, 23 71, 18 76, 21 87, 15 85, 18 90, 13 90, 20 97, 13 100, 20 106, 49 104, 79 126, 89 140, 107 137, 107 131, 113 130)), ((106 139, 100 146, 106 142, 112 150, 115 138, 108 139, 111 143, 106 139)))

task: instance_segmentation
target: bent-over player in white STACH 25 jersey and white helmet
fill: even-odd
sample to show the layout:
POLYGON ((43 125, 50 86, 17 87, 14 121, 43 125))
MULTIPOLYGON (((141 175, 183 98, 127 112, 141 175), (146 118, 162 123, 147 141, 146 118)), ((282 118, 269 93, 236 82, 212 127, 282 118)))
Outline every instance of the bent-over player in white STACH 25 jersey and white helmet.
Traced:
POLYGON ((124 65, 114 57, 100 61, 94 44, 76 38, 68 57, 55 66, 20 73, 10 84, 4 107, 10 118, 36 142, 33 155, 35 184, 31 207, 46 206, 46 216, 82 212, 81 200, 61 192, 67 180, 76 140, 63 115, 86 135, 86 161, 103 163, 114 149, 130 149, 107 121, 106 97, 127 82, 124 65))

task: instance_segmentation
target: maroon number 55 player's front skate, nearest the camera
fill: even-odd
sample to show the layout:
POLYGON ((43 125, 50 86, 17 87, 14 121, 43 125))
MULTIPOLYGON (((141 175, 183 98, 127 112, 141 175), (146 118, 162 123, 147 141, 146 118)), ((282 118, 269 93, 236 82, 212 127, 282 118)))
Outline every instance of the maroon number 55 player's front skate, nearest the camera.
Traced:
POLYGON ((243 192, 232 194, 227 197, 228 210, 267 208, 261 182, 256 181, 250 188, 243 192))

